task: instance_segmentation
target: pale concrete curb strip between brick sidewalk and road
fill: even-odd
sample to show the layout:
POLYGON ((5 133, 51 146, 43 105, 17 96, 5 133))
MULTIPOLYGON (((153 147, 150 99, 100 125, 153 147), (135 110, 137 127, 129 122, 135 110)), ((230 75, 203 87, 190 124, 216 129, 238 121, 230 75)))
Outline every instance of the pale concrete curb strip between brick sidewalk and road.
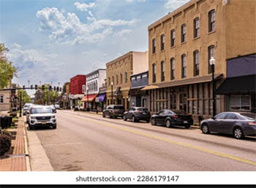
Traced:
MULTIPOLYGON (((24 126, 25 129, 28 125, 24 126)), ((43 149, 41 141, 37 137, 37 133, 34 131, 27 131, 26 136, 29 144, 29 160, 31 171, 53 171, 53 167, 50 164, 50 160, 43 149)))

